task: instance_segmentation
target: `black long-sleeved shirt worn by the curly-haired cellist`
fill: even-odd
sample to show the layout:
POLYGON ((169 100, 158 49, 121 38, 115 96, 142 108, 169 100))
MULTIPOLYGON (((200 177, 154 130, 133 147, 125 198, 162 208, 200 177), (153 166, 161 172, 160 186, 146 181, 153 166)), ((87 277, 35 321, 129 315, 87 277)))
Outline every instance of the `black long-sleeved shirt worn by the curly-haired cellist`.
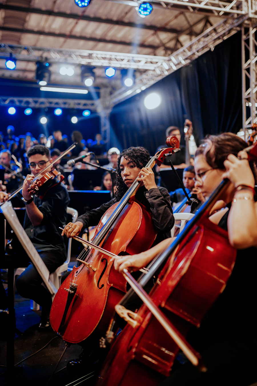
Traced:
MULTIPOLYGON (((135 198, 142 204, 146 209, 152 213, 153 223, 158 232, 155 242, 153 245, 158 244, 164 239, 171 237, 170 230, 172 229, 175 219, 170 203, 170 195, 165 188, 158 186, 146 190, 143 186, 136 192, 135 198)), ((82 222, 84 228, 95 226, 101 220, 102 215, 115 203, 115 199, 102 204, 101 207, 93 209, 90 212, 85 213, 77 218, 77 221, 82 222)))

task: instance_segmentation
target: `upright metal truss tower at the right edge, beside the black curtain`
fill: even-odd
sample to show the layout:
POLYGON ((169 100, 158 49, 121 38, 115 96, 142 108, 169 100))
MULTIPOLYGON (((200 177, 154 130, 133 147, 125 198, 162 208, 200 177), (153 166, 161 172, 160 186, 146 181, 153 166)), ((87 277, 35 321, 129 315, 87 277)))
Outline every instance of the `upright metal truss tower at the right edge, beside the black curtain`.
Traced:
POLYGON ((243 130, 257 122, 257 20, 247 20, 242 27, 242 105, 243 130))

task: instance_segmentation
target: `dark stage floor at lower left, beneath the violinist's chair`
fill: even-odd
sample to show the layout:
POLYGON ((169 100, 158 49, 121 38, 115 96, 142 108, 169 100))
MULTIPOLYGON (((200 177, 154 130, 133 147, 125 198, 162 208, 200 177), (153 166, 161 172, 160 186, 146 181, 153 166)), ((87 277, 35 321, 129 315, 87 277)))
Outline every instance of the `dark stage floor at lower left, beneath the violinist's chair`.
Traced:
MULTIPOLYGON (((74 262, 70 262, 70 264, 71 267, 73 267, 74 262)), ((3 272, 1 279, 5 281, 7 274, 3 272)), ((4 286, 7 287, 7 284, 4 284, 4 286)), ((21 334, 15 334, 14 337, 15 364, 35 353, 48 342, 51 342, 40 352, 17 366, 18 369, 13 372, 12 385, 17 383, 19 385, 46 386, 50 375, 54 371, 64 351, 64 341, 57 337, 52 328, 42 332, 38 330, 40 314, 41 311, 30 310, 30 300, 22 298, 16 291, 16 327, 21 334)), ((76 386, 77 384, 87 384, 91 386, 95 383, 95 377, 92 377, 94 373, 88 374, 89 371, 83 371, 76 375, 71 375, 67 372, 67 362, 71 359, 78 358, 80 353, 81 347, 79 345, 74 344, 67 348, 55 374, 49 382, 49 386, 76 386)), ((3 341, 0 341, 0 364, 6 364, 6 342, 3 341)), ((0 367, 0 386, 4 384, 7 384, 7 373, 4 368, 0 367)))

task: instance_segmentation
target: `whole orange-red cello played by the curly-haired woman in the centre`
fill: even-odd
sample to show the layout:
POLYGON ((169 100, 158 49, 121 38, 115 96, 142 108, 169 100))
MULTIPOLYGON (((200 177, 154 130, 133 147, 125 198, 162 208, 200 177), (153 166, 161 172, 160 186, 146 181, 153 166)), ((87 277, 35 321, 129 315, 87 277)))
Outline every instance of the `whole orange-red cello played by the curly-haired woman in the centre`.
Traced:
MULTIPOLYGON (((169 137, 166 144, 168 148, 158 151, 146 167, 160 165, 166 156, 179 151, 176 137, 169 137)), ((94 245, 117 255, 151 247, 157 233, 151 214, 134 197, 139 184, 134 181, 123 198, 103 215, 91 240, 94 245)), ((126 280, 114 270, 109 256, 90 248, 77 260, 81 265, 74 266, 60 286, 50 312, 52 328, 69 343, 82 342, 96 327, 97 333, 105 333, 114 305, 126 292, 126 280)))

